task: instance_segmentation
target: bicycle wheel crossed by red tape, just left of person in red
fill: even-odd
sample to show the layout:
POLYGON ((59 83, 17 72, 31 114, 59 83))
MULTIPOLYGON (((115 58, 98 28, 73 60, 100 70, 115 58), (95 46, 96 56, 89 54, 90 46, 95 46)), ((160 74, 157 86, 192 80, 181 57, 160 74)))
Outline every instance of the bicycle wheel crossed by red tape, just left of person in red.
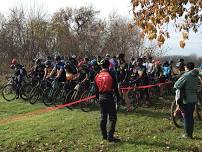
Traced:
MULTIPOLYGON (((81 99, 84 99, 84 98, 89 97, 89 96, 92 96, 92 93, 89 93, 89 91, 85 91, 81 95, 81 99)), ((89 100, 86 100, 84 102, 81 102, 80 103, 81 110, 83 112, 89 112, 89 111, 91 111, 92 108, 95 106, 95 101, 96 101, 96 99, 89 99, 89 100)))

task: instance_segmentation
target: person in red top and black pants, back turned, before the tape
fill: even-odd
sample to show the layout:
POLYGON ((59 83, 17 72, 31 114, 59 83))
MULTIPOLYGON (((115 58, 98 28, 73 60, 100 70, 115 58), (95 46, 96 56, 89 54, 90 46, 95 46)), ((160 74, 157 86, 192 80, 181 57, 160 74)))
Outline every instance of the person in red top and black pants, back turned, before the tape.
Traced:
POLYGON ((101 108, 100 128, 103 140, 109 142, 119 142, 120 139, 114 137, 117 109, 114 101, 114 95, 119 102, 119 91, 116 77, 109 72, 109 61, 104 59, 101 61, 102 70, 95 77, 96 98, 99 100, 101 108), (107 132, 107 121, 109 116, 110 128, 107 132))

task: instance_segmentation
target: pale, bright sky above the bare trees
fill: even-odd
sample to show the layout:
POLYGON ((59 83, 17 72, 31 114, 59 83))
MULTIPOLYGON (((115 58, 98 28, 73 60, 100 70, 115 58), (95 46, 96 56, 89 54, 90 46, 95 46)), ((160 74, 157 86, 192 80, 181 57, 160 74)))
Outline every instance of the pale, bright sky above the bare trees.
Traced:
MULTIPOLYGON (((62 7, 78 8, 91 5, 100 11, 100 17, 107 18, 108 15, 116 11, 128 19, 132 19, 130 4, 131 0, 2 0, 0 12, 7 15, 10 8, 23 7, 29 11, 30 8, 40 8, 51 15, 62 7)), ((198 33, 190 33, 189 40, 186 41, 184 49, 179 47, 180 33, 170 29, 170 39, 164 45, 167 48, 166 55, 190 55, 202 56, 202 28, 198 33)))

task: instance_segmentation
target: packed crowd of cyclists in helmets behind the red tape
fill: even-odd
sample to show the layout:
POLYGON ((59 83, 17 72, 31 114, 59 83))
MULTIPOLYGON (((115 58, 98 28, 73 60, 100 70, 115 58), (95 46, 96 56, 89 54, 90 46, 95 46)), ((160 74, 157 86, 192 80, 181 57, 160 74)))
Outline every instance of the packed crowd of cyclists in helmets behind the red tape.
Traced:
MULTIPOLYGON (((30 70, 25 70, 25 67, 17 59, 13 59, 11 68, 14 70, 14 76, 17 78, 17 88, 20 88, 22 81, 29 76, 33 84, 37 84, 41 80, 49 80, 59 83, 65 82, 68 89, 74 88, 79 84, 83 89, 87 90, 91 83, 94 82, 97 73, 101 70, 103 60, 109 60, 109 71, 116 76, 119 88, 164 83, 172 80, 174 75, 179 75, 185 71, 183 59, 180 59, 176 65, 172 61, 161 63, 159 59, 146 56, 131 58, 127 62, 125 54, 117 56, 106 54, 104 57, 84 57, 82 59, 78 59, 76 55, 72 55, 68 59, 64 59, 62 56, 56 56, 55 58, 47 57, 46 59, 39 58, 34 60, 34 65, 30 70), (176 67, 178 73, 173 70, 176 67)), ((17 98, 19 98, 19 89, 17 93, 17 98)), ((121 90, 120 93, 125 101, 126 110, 132 111, 128 91, 121 90)), ((151 102, 148 89, 142 90, 141 95, 145 97, 144 105, 149 106, 151 102)))

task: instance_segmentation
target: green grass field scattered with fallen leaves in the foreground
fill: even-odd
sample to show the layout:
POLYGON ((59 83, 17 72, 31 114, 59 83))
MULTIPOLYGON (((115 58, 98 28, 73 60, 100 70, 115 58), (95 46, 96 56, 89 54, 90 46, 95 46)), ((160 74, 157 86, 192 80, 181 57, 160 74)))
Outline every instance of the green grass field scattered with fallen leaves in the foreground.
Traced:
POLYGON ((169 101, 158 100, 150 108, 118 113, 116 135, 120 143, 101 140, 99 111, 77 110, 27 114, 42 108, 21 100, 5 102, 0 98, 0 151, 2 152, 202 152, 202 123, 196 122, 198 139, 181 139, 182 131, 169 120, 169 101), (18 119, 12 119, 17 116, 18 119), (8 121, 2 121, 2 120, 8 121))

